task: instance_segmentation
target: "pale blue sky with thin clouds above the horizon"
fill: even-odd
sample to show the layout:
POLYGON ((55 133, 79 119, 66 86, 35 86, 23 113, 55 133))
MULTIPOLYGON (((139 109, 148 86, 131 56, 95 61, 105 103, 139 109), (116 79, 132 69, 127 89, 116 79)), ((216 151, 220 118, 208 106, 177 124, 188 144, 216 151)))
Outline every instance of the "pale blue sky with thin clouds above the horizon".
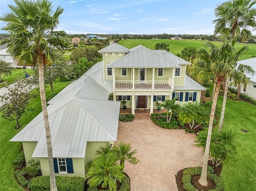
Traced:
MULTIPOLYGON (((70 34, 214 33, 214 8, 225 0, 52 0, 64 8, 57 30, 70 34)), ((0 0, 0 15, 10 12, 0 0)), ((4 24, 0 22, 2 27, 4 24)), ((0 33, 6 33, 0 30, 0 33)), ((252 32, 256 35, 256 31, 252 32)))

